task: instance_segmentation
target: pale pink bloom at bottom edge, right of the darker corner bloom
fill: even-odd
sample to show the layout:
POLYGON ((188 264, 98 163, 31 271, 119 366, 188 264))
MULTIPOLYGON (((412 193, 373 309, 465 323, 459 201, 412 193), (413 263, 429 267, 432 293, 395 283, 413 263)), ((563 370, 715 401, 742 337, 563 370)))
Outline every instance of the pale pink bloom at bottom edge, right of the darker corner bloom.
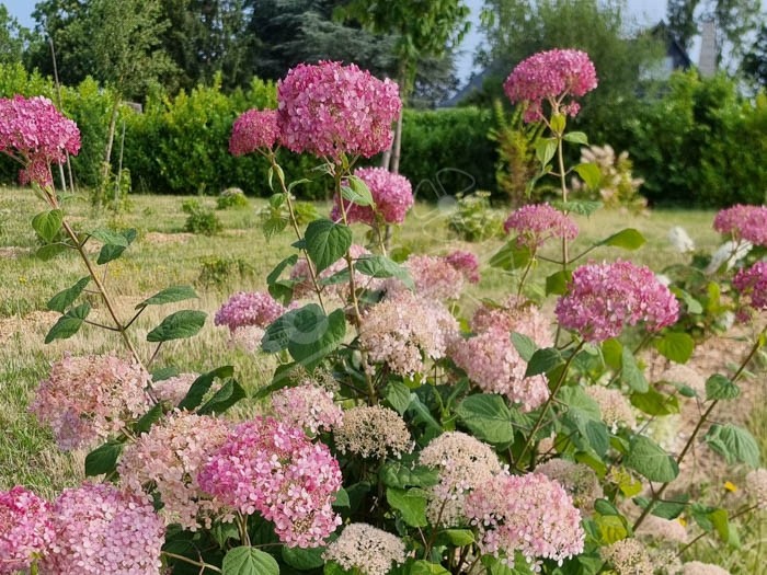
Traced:
POLYGON ((157 575, 165 529, 148 497, 106 483, 66 490, 54 504, 54 542, 41 572, 157 575))

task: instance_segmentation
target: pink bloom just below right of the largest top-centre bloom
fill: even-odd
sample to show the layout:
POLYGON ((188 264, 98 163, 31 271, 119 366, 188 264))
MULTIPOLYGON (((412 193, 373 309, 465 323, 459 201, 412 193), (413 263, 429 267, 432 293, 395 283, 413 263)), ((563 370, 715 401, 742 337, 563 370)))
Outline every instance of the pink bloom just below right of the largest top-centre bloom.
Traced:
MULTIPOLYGON (((376 223, 376 216, 385 223, 402 223, 408 210, 413 207, 413 187, 410 180, 400 174, 394 174, 385 168, 359 168, 354 171, 367 184, 373 196, 373 206, 359 206, 348 200, 343 200, 346 211, 346 221, 376 223)), ((341 202, 337 194, 334 197, 331 219, 342 219, 341 202)))

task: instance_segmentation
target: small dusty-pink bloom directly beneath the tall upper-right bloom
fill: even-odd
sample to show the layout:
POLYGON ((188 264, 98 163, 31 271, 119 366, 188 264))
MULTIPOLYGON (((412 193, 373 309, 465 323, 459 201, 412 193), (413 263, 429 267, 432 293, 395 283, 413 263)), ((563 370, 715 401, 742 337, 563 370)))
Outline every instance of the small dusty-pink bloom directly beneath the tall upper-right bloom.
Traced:
POLYGON ((530 204, 512 211, 503 229, 506 233, 514 230, 517 245, 526 245, 533 251, 554 238, 568 241, 577 238, 575 222, 548 204, 530 204))

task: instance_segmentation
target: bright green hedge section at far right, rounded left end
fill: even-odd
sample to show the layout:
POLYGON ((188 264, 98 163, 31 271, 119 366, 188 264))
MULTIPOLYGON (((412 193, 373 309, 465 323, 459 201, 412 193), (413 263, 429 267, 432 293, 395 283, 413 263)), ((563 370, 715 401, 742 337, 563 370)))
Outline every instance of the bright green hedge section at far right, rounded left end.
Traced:
POLYGON ((737 95, 723 76, 676 73, 648 100, 619 145, 634 158, 642 193, 654 203, 724 207, 762 204, 767 189, 767 99, 737 95))

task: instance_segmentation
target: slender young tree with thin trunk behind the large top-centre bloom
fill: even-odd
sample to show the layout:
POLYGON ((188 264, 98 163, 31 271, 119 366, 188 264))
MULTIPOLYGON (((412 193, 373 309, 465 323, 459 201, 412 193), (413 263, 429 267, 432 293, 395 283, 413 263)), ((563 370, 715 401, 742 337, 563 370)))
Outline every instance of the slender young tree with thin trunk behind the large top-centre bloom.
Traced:
MULTIPOLYGON (((469 8, 462 0, 351 0, 337 13, 374 33, 396 36, 397 79, 405 103, 415 84, 419 61, 451 53, 469 30, 469 8)), ((385 166, 394 173, 399 171, 401 141, 402 114, 397 122, 391 165, 389 154, 384 158, 385 166)))

